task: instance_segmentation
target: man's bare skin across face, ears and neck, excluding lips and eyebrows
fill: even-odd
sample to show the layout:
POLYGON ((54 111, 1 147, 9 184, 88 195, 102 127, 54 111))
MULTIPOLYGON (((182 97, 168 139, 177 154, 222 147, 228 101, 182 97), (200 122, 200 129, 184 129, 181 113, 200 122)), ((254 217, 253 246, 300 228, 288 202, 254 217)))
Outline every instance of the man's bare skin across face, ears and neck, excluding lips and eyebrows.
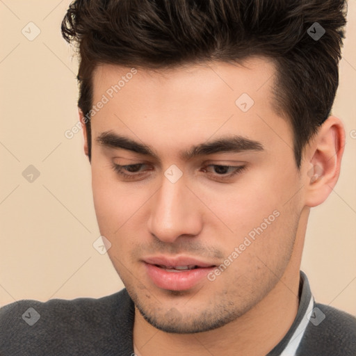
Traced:
MULTIPOLYGON (((95 211, 101 234, 111 242, 108 255, 136 304, 137 355, 266 355, 298 311, 309 209, 337 183, 343 124, 333 116, 324 122, 298 170, 289 120, 273 108, 275 66, 257 57, 243 64, 138 70, 92 117, 95 211), (254 100, 246 113, 235 104, 243 92, 254 100), (97 138, 109 130, 149 145, 157 156, 104 147, 97 138), (191 160, 179 155, 232 133, 258 141, 264 150, 191 160), (128 181, 112 163, 145 165, 128 181), (183 173, 174 184, 164 175, 172 164, 183 173), (212 165, 246 169, 222 179, 232 170, 222 173, 212 165), (145 272, 142 259, 158 254, 220 265, 273 211, 280 215, 213 281, 168 291, 145 272)), ((93 102, 129 71, 97 67, 93 102)), ((88 154, 85 125, 83 134, 88 154)))

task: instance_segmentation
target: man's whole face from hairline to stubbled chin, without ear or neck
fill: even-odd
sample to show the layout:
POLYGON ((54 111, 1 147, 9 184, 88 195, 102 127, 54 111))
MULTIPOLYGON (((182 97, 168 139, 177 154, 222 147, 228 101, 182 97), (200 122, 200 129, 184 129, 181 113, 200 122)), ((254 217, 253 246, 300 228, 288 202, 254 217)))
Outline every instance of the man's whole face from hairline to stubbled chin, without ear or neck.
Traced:
POLYGON ((273 74, 263 58, 95 72, 99 229, 136 307, 163 331, 234 321, 293 255, 300 175, 291 126, 273 109, 273 74))

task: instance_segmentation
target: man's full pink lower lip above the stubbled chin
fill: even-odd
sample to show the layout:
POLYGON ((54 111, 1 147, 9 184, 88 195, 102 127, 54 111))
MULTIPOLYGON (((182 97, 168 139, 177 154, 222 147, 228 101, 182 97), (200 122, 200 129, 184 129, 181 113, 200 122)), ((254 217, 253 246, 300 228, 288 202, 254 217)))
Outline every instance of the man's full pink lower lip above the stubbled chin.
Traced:
POLYGON ((193 270, 183 270, 181 272, 168 272, 163 268, 159 268, 154 264, 146 264, 146 270, 152 282, 159 288, 168 289, 170 291, 185 291, 193 288, 214 267, 195 268, 193 270))

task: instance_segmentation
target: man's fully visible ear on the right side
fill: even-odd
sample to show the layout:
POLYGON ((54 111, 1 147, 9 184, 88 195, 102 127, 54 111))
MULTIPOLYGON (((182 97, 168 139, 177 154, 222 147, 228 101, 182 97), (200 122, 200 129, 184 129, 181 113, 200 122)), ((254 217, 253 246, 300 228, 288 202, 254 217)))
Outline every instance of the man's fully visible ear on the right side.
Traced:
POLYGON ((330 116, 307 147, 305 204, 316 207, 330 195, 339 179, 345 146, 345 129, 340 119, 330 116))

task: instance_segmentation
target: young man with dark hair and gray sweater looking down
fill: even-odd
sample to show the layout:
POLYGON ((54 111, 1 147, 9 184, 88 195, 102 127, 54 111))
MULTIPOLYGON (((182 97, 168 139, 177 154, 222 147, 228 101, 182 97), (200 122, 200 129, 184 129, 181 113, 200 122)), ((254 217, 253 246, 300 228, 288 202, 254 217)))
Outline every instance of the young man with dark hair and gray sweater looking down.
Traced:
POLYGON ((126 288, 3 307, 1 355, 356 354, 356 319, 300 271, 345 145, 344 6, 72 3, 95 211, 126 288))

